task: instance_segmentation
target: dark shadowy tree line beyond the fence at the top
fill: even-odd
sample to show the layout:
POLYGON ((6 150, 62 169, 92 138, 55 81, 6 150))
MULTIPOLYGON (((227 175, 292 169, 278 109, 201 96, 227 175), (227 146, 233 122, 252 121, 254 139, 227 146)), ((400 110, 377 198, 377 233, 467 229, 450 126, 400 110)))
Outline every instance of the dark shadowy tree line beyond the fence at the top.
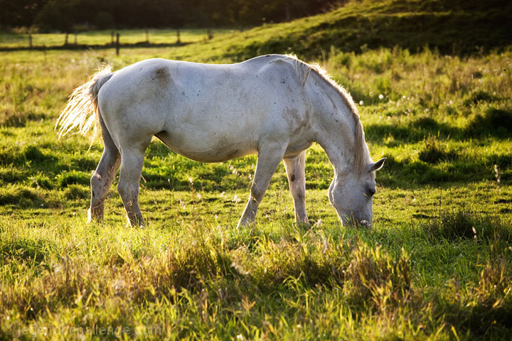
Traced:
POLYGON ((0 0, 0 27, 243 27, 326 11, 345 0, 0 0))

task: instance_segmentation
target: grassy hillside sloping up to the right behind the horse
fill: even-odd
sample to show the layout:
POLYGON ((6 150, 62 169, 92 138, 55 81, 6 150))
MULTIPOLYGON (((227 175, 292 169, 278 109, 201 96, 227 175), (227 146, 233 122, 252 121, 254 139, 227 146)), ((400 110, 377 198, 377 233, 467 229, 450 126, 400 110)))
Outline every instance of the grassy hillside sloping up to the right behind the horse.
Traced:
POLYGON ((220 49, 223 58, 245 60, 293 51, 312 59, 328 52, 331 45, 356 53, 395 46, 414 53, 428 45, 444 54, 460 55, 510 45, 511 22, 512 3, 504 0, 349 1, 329 13, 214 40, 210 53, 220 49))

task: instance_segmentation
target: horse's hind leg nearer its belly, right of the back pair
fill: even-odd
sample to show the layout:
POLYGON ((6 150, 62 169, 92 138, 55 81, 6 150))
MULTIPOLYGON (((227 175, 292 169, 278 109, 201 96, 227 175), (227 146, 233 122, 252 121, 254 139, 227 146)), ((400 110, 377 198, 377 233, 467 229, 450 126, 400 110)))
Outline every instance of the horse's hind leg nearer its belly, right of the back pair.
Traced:
POLYGON ((132 227, 144 225, 139 208, 139 183, 144 163, 144 149, 122 148, 121 171, 117 190, 127 212, 128 222, 132 227))

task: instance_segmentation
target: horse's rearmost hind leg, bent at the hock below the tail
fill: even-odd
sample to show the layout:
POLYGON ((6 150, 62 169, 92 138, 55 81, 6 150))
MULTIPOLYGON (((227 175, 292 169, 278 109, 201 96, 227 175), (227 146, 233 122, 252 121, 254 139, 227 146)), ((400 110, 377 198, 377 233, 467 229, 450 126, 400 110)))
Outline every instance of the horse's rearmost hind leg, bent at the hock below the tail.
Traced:
POLYGON ((105 197, 110 190, 112 181, 119 169, 121 163, 121 154, 117 150, 117 147, 112 141, 105 124, 100 119, 102 126, 103 143, 105 148, 103 149, 103 155, 100 159, 100 163, 96 168, 95 173, 92 175, 90 180, 91 184, 91 205, 89 208, 89 220, 95 222, 101 222, 103 220, 103 212, 105 205, 105 197))

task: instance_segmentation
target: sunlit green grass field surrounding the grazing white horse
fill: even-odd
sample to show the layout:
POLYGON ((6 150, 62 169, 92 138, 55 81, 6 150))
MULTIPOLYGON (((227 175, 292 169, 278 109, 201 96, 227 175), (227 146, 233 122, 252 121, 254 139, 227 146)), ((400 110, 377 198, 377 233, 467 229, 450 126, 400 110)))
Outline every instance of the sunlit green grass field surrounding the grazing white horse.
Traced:
POLYGON ((338 26, 321 22, 357 11, 119 56, 0 53, 0 340, 510 340, 512 51, 329 44, 338 26), (324 45, 294 40, 306 23, 324 45), (338 222, 317 145, 306 158, 311 227, 293 223, 281 165, 256 223, 238 229, 256 157, 197 163, 159 141, 142 174, 147 227, 125 226, 117 183, 105 223, 85 223, 102 144, 87 151, 86 138, 53 130, 74 87, 101 63, 267 52, 320 63, 353 95, 371 156, 388 158, 372 229, 338 222))

